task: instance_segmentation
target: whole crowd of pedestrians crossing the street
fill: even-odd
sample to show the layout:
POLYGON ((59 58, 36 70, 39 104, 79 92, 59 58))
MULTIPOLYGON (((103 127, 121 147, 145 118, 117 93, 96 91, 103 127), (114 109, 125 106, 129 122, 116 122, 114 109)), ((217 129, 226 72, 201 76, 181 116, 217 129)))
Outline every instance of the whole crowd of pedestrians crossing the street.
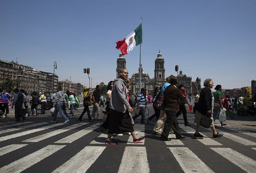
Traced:
MULTIPOLYGON (((177 118, 182 114, 184 119, 184 126, 190 127, 190 123, 187 118, 186 104, 191 108, 191 97, 189 102, 187 100, 187 91, 184 84, 178 84, 178 78, 176 76, 167 77, 166 83, 163 86, 155 87, 152 98, 154 114, 145 120, 146 105, 147 105, 147 90, 141 88, 140 92, 135 96, 129 92, 130 81, 128 79, 128 70, 123 68, 119 72, 119 77, 108 83, 108 91, 105 98, 101 95, 101 86, 97 85, 96 90, 90 93, 90 87, 84 87, 83 105, 84 110, 79 116, 79 120, 83 121, 83 116, 87 112, 89 122, 94 120, 102 121, 100 116, 100 107, 103 106, 104 113, 103 124, 100 125, 101 131, 104 133, 108 130, 108 137, 105 144, 116 145, 115 141, 112 141, 113 135, 122 136, 123 133, 132 135, 133 142, 141 142, 145 140, 145 137, 137 137, 138 132, 134 131, 135 119, 140 117, 140 123, 150 123, 153 118, 156 118, 156 124, 153 128, 153 135, 160 135, 160 141, 170 141, 169 134, 175 134, 176 139, 185 139, 187 136, 183 136, 179 131, 179 125, 177 118), (92 115, 90 114, 89 106, 93 105, 92 115), (132 116, 133 108, 135 115, 132 116), (97 118, 95 117, 97 115, 97 118)), ((207 123, 212 130, 213 138, 221 137, 223 134, 218 133, 215 129, 214 122, 220 117, 220 112, 225 108, 226 114, 230 115, 231 119, 235 119, 230 114, 236 104, 239 105, 246 102, 246 98, 239 97, 238 99, 230 99, 230 95, 226 95, 224 98, 221 93, 221 85, 216 85, 214 94, 212 94, 212 88, 214 84, 212 79, 206 79, 204 81, 204 88, 200 93, 195 93, 194 97, 194 123, 196 123, 196 130, 194 137, 203 137, 199 133, 200 126, 205 126, 202 121, 207 119, 207 123), (199 95, 198 95, 199 94, 199 95)), ((28 93, 24 90, 14 90, 15 95, 11 92, 3 90, 1 94, 0 104, 2 105, 1 117, 9 117, 9 105, 15 105, 15 119, 17 121, 24 120, 28 115, 28 103, 31 104, 31 116, 38 116, 37 106, 41 104, 41 114, 45 114, 45 107, 47 104, 47 93, 42 93, 38 96, 37 92, 32 92, 29 99, 28 93)), ((66 109, 70 109, 72 118, 75 118, 74 106, 78 101, 76 94, 67 90, 65 93, 61 91, 61 87, 57 90, 53 90, 51 95, 50 112, 53 119, 51 123, 56 122, 57 114, 60 113, 64 119, 64 123, 68 123, 68 115, 66 109)), ((224 122, 220 122, 221 126, 226 126, 224 122)), ((208 128, 209 128, 208 127, 208 128)))

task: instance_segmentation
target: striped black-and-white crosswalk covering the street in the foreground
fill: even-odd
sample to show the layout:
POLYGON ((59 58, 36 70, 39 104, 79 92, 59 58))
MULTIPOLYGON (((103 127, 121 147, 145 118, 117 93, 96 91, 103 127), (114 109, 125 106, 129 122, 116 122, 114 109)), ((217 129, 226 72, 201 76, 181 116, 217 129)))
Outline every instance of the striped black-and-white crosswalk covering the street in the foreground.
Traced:
POLYGON ((135 124, 138 137, 113 137, 118 145, 105 145, 107 133, 100 123, 0 123, 0 173, 7 172, 255 172, 256 135, 233 127, 218 129, 221 138, 211 138, 210 129, 200 129, 203 138, 194 138, 195 126, 180 125, 186 140, 159 141, 151 127, 135 124), (208 137, 209 136, 209 137, 208 137), (49 164, 51 163, 51 164, 49 164), (213 163, 218 163, 213 164, 213 163), (228 169, 227 169, 228 168, 228 169))

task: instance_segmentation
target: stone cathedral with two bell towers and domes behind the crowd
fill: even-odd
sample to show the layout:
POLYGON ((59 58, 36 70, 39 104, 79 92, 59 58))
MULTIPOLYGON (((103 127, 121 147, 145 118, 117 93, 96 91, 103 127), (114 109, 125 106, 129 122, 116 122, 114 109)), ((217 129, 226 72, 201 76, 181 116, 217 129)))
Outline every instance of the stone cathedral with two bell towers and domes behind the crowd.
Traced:
MULTIPOLYGON (((126 68, 126 61, 123 54, 119 54, 119 58, 117 59, 116 63, 117 63, 117 66, 116 66, 116 78, 117 78, 120 69, 126 68)), ((129 78, 131 81, 129 91, 133 94, 136 94, 139 92, 139 72, 140 72, 140 69, 138 69, 138 71, 135 74, 133 73, 132 77, 129 78)), ((162 57, 160 50, 155 60, 154 72, 155 72, 155 77, 150 78, 149 75, 143 71, 143 68, 141 66, 141 88, 145 88, 147 90, 147 93, 150 93, 150 92, 153 93, 155 87, 163 86, 163 84, 166 82, 164 58, 162 57)), ((183 75, 181 70, 180 70, 180 74, 177 77, 179 81, 178 84, 180 83, 184 84, 187 90, 187 93, 191 93, 192 90, 194 92, 198 92, 199 90, 201 91, 201 84, 200 84, 201 80, 198 77, 196 79, 197 80, 196 82, 191 82, 192 78, 187 77, 186 75, 183 75), (192 83, 193 83, 193 86, 191 86, 192 83)))

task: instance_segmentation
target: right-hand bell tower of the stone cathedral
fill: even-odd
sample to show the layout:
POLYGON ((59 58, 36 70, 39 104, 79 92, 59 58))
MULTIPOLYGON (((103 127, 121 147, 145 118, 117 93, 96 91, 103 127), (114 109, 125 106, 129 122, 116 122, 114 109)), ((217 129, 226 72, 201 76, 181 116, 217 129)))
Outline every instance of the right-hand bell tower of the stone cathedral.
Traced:
POLYGON ((164 58, 162 58, 160 50, 155 60, 155 79, 165 79, 164 58))

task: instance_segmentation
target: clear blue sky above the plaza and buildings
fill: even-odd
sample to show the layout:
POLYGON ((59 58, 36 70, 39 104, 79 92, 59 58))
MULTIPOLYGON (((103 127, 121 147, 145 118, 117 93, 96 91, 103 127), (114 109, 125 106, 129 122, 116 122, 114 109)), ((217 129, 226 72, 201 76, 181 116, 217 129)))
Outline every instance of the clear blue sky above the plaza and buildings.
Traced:
MULTIPOLYGON (((256 1, 0 1, 0 59, 29 66, 57 61, 55 73, 88 85, 116 78, 116 41, 143 18, 142 67, 154 77, 158 50, 165 76, 212 78, 232 89, 256 79, 256 1), (176 73, 177 74, 177 73, 176 73)), ((125 55, 129 77, 139 68, 140 47, 125 55)), ((36 67, 53 72, 53 67, 36 67)))

